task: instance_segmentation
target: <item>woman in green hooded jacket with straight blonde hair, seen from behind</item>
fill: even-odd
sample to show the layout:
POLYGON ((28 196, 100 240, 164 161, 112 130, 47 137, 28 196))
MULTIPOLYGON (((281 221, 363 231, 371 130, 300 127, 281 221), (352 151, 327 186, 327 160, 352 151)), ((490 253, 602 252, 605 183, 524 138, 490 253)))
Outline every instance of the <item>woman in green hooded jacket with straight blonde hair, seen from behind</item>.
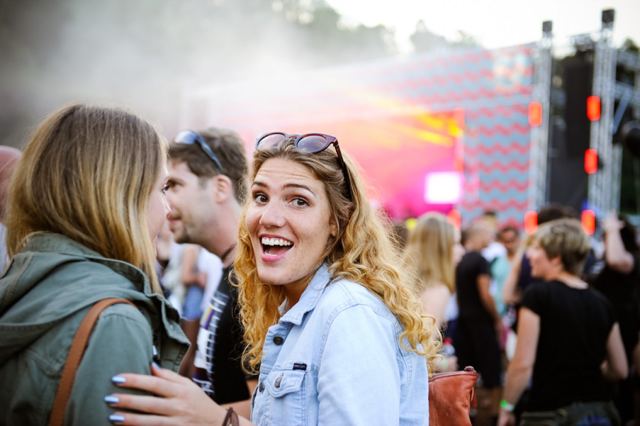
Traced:
MULTIPOLYGON (((177 371, 187 350, 164 299, 154 240, 170 207, 166 143, 122 109, 72 105, 35 130, 15 170, 6 216, 12 263, 0 279, 0 423, 49 422, 72 339, 92 306, 117 298, 93 327, 65 424, 102 424, 123 369, 177 371)), ((131 392, 131 391, 129 391, 131 392)))

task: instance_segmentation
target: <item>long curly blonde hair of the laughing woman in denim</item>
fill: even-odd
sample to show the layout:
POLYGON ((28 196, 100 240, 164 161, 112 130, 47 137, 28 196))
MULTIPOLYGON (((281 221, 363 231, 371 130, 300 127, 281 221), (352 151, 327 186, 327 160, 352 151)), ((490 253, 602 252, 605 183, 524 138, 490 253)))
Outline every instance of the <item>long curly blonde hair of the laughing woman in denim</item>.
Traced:
MULTIPOLYGON (((415 271, 403 267, 401 249, 390 231, 390 221, 372 209, 365 185, 355 164, 344 155, 351 180, 351 198, 344 173, 335 151, 326 149, 308 154, 295 148, 291 139, 253 154, 250 181, 265 161, 272 158, 296 161, 323 182, 331 210, 331 221, 337 225, 337 236, 329 241, 323 262, 329 265, 331 281, 345 278, 360 283, 376 294, 403 324, 399 343, 406 351, 426 357, 429 373, 440 349, 440 334, 435 319, 422 314, 415 294, 415 271), (408 343, 408 346, 405 344, 408 343)), ((277 324, 278 309, 285 300, 284 286, 266 285, 260 281, 252 242, 245 217, 252 202, 248 197, 240 217, 234 275, 239 287, 244 340, 247 343, 243 361, 248 372, 256 373, 262 360, 262 349, 268 328, 277 324)))

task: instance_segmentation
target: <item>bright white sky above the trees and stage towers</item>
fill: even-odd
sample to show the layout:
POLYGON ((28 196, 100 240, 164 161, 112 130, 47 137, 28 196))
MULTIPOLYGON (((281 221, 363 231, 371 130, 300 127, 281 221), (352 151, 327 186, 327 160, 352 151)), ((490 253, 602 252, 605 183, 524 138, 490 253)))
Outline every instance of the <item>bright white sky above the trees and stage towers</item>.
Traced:
POLYGON ((540 39, 542 22, 552 20, 557 43, 600 29, 603 9, 614 8, 614 43, 630 37, 640 43, 640 0, 326 0, 348 24, 385 24, 396 29, 403 51, 422 19, 430 31, 455 40, 457 31, 493 49, 540 39))

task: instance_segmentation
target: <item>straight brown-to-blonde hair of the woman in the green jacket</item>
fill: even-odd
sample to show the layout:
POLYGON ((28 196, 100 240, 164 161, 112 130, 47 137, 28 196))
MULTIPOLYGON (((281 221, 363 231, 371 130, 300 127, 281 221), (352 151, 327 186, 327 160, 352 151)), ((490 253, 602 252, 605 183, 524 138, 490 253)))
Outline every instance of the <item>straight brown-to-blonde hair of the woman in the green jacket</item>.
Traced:
POLYGON ((54 232, 139 267, 161 288, 148 205, 166 141, 134 114, 76 104, 49 115, 24 148, 9 191, 6 246, 54 232))

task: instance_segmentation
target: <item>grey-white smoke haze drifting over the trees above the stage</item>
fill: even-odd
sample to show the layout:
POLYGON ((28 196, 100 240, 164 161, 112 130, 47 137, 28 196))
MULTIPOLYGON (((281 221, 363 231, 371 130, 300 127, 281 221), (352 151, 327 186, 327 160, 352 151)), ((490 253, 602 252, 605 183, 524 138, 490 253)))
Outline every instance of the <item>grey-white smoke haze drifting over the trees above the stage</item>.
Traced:
POLYGON ((190 88, 396 52, 390 30, 339 18, 317 0, 0 0, 0 144, 72 102, 127 107, 171 138, 190 88))

